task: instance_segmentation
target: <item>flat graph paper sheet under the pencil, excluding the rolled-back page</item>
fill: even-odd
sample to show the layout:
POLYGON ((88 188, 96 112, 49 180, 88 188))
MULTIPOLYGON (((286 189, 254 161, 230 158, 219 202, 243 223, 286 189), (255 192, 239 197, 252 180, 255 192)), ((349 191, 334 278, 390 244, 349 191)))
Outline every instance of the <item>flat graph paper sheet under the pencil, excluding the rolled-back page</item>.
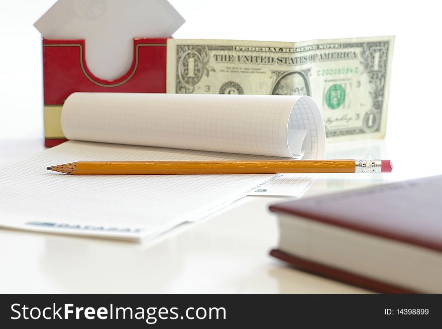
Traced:
MULTIPOLYGON (((126 160, 262 160, 251 156, 69 141, 0 171, 0 226, 141 239, 198 221, 275 175, 72 176, 48 165, 126 160)), ((272 158, 270 158, 272 159, 272 158)))

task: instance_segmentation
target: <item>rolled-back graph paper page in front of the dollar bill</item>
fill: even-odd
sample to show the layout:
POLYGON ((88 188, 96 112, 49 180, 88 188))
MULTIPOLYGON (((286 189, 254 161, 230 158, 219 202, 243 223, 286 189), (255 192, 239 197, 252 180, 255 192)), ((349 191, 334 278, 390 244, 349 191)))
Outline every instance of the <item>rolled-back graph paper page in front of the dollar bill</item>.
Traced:
POLYGON ((308 96, 73 93, 66 138, 104 143, 323 158, 325 131, 308 96))

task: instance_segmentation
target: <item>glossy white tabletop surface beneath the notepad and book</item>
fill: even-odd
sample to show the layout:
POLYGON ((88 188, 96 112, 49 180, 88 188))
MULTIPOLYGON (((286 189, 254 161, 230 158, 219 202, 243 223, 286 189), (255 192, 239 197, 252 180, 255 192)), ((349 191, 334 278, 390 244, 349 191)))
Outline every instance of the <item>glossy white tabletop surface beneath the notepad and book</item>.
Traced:
MULTIPOLYGON (((406 135, 406 130, 402 131, 406 135)), ((391 157, 393 173, 317 175, 303 197, 440 171, 437 161, 429 161, 433 165, 425 172, 407 167, 413 152, 408 152, 408 147, 402 148, 406 139, 401 140, 397 134, 386 141, 332 144, 327 151, 328 158, 391 157), (392 151, 387 152, 387 149, 392 151)), ((411 149, 413 146, 409 145, 411 149)), ((0 166, 23 160, 43 149, 40 138, 0 139, 0 166)), ((437 158, 440 159, 440 155, 437 158)), ((278 244, 278 226, 268 206, 287 199, 248 196, 200 223, 182 225, 144 244, 0 229, 0 264, 3 267, 0 291, 363 292, 295 270, 269 256, 269 251, 278 244)))

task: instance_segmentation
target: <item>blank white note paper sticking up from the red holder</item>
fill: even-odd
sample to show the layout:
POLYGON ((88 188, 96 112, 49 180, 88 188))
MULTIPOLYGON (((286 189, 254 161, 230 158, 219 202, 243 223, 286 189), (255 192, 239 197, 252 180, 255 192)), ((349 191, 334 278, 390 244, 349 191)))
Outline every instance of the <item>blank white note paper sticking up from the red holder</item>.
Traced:
POLYGON ((166 0, 59 0, 34 26, 46 39, 84 39, 89 70, 114 80, 132 65, 133 38, 170 37, 183 23, 166 0))

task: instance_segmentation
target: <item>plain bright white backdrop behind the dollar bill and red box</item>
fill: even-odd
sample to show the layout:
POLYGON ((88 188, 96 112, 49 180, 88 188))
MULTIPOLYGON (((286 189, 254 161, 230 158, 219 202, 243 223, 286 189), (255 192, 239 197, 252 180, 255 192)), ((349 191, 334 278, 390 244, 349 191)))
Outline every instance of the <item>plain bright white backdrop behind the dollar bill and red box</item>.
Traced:
MULTIPOLYGON (((54 0, 1 2, 0 140, 43 136, 41 37, 33 24, 53 3, 54 0)), ((175 38, 304 41, 395 35, 387 156, 440 159, 442 29, 436 2, 170 3, 186 19, 175 38)))

